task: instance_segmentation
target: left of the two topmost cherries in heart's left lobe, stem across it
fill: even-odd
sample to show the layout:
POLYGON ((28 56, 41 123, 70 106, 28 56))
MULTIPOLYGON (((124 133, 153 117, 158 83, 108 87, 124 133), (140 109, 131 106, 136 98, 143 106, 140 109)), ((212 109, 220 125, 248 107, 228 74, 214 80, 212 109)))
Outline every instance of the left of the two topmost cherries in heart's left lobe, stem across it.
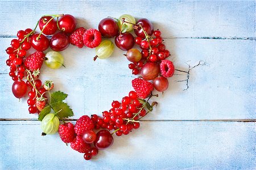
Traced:
POLYGON ((43 16, 42 18, 39 19, 39 28, 42 31, 44 35, 53 35, 57 31, 57 23, 54 19, 52 19, 50 22, 49 20, 52 19, 52 16, 43 16), (47 24, 47 25, 46 25, 47 24))

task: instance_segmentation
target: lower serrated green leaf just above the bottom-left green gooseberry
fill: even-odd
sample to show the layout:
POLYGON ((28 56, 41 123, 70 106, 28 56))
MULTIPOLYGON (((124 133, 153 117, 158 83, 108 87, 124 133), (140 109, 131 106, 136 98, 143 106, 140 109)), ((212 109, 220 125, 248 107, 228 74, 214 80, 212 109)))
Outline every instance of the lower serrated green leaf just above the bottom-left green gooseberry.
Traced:
POLYGON ((62 101, 57 101, 56 103, 51 104, 53 111, 58 112, 56 116, 59 118, 73 116, 74 113, 71 108, 69 108, 67 103, 62 101))

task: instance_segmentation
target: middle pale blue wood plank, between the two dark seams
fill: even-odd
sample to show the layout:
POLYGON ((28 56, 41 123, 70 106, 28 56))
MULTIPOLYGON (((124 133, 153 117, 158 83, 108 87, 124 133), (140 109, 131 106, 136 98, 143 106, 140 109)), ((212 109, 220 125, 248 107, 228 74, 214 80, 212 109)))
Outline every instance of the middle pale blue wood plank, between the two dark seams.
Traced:
MULTIPOLYGON (((0 39, 7 45, 10 38, 0 39)), ((186 61, 194 65, 200 59, 207 65, 191 72, 189 89, 185 76, 170 78, 170 88, 155 99, 159 102, 156 111, 148 115, 150 120, 190 120, 255 118, 255 41, 251 40, 202 40, 166 39, 177 69, 187 69, 186 61)), ((122 52, 115 49, 112 57, 93 62, 93 49, 78 49, 69 46, 64 54, 65 68, 51 70, 42 68, 42 80, 55 82, 55 90, 69 94, 67 101, 78 118, 83 114, 100 114, 110 109, 112 100, 121 100, 130 90, 135 77, 128 69, 128 61, 122 52), (117 88, 118 87, 118 88, 117 88)), ((3 50, 1 61, 6 59, 3 50)), ((4 62, 0 73, 8 73, 4 62)), ((178 73, 178 72, 176 72, 178 73)), ((11 92, 13 82, 9 75, 1 74, 1 118, 34 118, 27 112, 25 100, 15 100, 11 92), (13 107, 10 107, 10 106, 13 107)))

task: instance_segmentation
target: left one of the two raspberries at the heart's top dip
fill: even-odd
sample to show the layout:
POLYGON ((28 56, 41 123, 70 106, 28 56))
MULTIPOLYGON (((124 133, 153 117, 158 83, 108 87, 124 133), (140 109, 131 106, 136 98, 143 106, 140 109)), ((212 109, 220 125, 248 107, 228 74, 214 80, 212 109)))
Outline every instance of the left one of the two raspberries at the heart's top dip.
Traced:
POLYGON ((70 36, 69 41, 72 45, 78 46, 78 48, 82 48, 84 46, 84 41, 82 37, 84 36, 86 29, 83 27, 77 28, 70 36))

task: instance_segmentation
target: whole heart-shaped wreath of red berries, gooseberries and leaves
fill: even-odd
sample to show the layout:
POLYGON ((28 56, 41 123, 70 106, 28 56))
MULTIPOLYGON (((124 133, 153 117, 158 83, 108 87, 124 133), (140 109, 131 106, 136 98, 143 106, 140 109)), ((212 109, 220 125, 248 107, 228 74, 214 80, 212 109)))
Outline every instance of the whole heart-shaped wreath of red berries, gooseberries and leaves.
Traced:
POLYGON ((34 29, 20 30, 17 37, 6 49, 9 54, 6 64, 10 66, 9 75, 14 80, 14 96, 20 99, 28 94, 28 112, 39 114, 42 135, 59 132, 63 142, 84 153, 85 160, 110 147, 114 134, 127 135, 138 129, 139 120, 158 104, 148 102, 151 97, 158 96, 152 91, 166 91, 168 78, 175 71, 174 64, 167 59, 170 51, 166 49, 159 29, 154 29, 148 19, 136 22, 127 14, 119 19, 102 19, 98 30, 76 28, 76 19, 72 15, 44 15, 34 29), (36 32, 38 26, 40 32, 36 32), (68 95, 61 91, 52 92, 54 83, 51 80, 42 83, 40 69, 43 63, 51 69, 64 66, 64 58, 59 52, 67 49, 69 44, 78 48, 95 48, 94 61, 110 57, 114 44, 110 40, 102 41, 102 37, 114 37, 115 45, 127 51, 124 56, 131 62, 128 67, 132 74, 139 75, 131 82, 134 91, 119 101, 114 100, 110 110, 102 112, 101 116, 81 116, 75 125, 65 122, 65 118, 73 116, 72 109, 64 102, 68 95), (134 48, 135 44, 141 50, 134 48))

